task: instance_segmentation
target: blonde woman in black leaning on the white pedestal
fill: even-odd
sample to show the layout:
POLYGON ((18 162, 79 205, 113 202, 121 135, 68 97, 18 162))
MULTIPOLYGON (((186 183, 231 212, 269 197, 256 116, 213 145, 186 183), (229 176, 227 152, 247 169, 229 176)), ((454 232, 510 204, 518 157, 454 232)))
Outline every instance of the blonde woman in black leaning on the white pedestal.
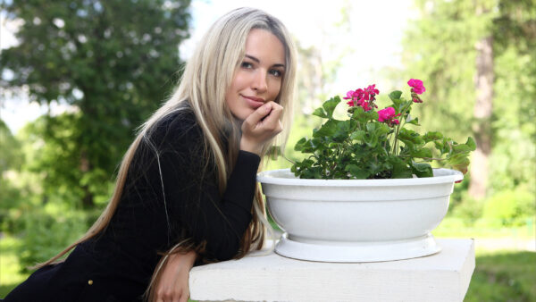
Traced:
POLYGON ((295 71, 281 21, 222 16, 141 127, 105 212, 5 300, 186 301, 195 263, 260 249, 269 225, 255 174, 281 130, 286 140, 295 71))

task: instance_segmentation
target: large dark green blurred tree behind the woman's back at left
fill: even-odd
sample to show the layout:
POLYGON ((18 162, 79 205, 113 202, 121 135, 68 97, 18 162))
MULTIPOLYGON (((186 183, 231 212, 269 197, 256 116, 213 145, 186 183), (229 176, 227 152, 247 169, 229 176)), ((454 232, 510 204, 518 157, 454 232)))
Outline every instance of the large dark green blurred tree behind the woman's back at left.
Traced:
POLYGON ((71 113, 40 122, 57 146, 38 167, 45 185, 80 190, 94 205, 134 135, 171 92, 180 73, 180 42, 188 38, 189 0, 5 1, 21 20, 20 44, 0 55, 0 87, 28 88, 31 101, 71 105, 71 113), (67 160, 68 159, 68 160, 67 160), (60 163, 61 164, 57 164, 60 163), (90 181, 88 181, 90 180, 90 181), (93 183, 93 187, 90 183, 93 183), (97 184, 97 185, 96 185, 97 184))

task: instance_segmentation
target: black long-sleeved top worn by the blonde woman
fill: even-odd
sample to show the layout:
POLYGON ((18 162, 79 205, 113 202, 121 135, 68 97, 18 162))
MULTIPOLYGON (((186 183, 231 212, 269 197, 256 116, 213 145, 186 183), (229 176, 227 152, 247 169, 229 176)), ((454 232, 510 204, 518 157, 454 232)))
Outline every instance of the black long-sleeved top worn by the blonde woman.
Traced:
POLYGON ((62 264, 33 273, 6 301, 137 300, 147 289, 158 252, 183 239, 205 242, 201 256, 206 259, 237 254, 251 222, 260 157, 239 151, 221 196, 193 113, 167 116, 147 138, 133 157, 106 230, 81 243, 62 264))

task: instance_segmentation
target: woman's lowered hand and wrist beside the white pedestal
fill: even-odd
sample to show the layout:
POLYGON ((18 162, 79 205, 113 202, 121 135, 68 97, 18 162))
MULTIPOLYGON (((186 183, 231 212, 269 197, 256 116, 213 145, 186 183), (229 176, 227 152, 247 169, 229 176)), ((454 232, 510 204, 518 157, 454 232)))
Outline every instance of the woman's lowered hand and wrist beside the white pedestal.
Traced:
POLYGON ((187 302, 189 298, 189 271, 196 262, 197 254, 190 251, 187 254, 172 254, 168 256, 163 267, 160 281, 156 285, 157 302, 179 301, 187 302))

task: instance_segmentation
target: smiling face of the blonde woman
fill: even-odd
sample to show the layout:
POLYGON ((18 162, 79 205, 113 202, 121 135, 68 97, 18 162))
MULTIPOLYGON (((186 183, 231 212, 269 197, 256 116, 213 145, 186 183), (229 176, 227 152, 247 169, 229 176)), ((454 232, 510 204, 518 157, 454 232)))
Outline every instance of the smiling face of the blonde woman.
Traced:
POLYGON ((230 112, 240 121, 264 103, 275 100, 285 71, 285 49, 270 31, 252 29, 246 55, 225 94, 230 112))

